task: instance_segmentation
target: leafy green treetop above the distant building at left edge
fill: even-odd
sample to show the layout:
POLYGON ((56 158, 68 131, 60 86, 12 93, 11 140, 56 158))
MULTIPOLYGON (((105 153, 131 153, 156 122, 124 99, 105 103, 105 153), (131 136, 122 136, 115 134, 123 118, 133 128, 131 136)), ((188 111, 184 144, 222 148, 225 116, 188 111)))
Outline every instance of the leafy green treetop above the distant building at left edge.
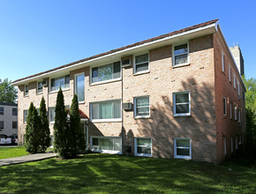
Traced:
POLYGON ((3 82, 0 82, 0 101, 3 102, 15 102, 17 99, 17 90, 14 86, 11 86, 11 80, 4 78, 3 82))

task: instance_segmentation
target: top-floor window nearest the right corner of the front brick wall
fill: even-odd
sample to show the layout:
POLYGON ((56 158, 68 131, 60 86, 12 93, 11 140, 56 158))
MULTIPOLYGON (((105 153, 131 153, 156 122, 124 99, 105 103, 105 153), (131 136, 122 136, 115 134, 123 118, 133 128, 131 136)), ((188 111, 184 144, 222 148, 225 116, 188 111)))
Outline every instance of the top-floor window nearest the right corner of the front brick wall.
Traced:
POLYGON ((184 63, 189 63, 188 62, 188 44, 182 44, 182 45, 177 45, 174 46, 173 48, 173 66, 178 65, 178 64, 184 64, 184 63))

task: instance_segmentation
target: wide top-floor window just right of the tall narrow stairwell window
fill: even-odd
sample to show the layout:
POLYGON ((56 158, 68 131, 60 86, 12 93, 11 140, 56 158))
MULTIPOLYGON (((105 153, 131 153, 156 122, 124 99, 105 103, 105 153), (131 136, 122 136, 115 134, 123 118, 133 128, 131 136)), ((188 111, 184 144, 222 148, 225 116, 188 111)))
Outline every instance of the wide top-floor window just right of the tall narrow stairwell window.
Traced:
POLYGON ((121 63, 109 63, 92 68, 92 83, 121 78, 121 63))

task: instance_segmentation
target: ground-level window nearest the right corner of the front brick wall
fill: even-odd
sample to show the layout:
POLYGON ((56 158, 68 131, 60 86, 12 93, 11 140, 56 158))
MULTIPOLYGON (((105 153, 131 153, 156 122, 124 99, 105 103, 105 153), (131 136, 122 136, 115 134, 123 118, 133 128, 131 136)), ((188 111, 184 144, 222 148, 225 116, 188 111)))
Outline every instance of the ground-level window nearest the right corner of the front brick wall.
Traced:
POLYGON ((174 158, 191 159, 191 139, 190 138, 175 138, 174 139, 174 158))

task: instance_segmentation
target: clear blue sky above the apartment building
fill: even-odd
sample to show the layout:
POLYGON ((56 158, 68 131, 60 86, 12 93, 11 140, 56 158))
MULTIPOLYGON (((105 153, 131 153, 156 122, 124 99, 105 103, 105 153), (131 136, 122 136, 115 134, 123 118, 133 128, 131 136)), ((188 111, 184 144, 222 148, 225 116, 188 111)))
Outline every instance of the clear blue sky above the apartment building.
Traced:
POLYGON ((110 49, 220 19, 255 78, 255 1, 0 0, 0 78, 12 81, 110 49))

